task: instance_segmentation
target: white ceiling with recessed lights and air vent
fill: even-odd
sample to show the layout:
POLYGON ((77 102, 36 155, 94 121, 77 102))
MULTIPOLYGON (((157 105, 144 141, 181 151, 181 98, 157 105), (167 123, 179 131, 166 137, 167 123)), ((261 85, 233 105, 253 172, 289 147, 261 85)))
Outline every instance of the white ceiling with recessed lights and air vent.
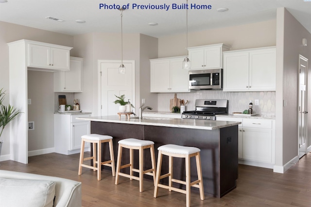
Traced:
MULTIPOLYGON (((186 0, 7 0, 0 3, 0 21, 42 30, 79 35, 92 32, 121 32, 121 12, 100 9, 100 4, 129 4, 123 11, 123 33, 140 33, 154 37, 186 31, 186 0), (138 9, 133 6, 170 6, 165 9, 138 9), (64 20, 59 22, 45 17, 64 20), (77 23, 75 20, 85 20, 77 23), (156 22, 156 26, 148 23, 156 22)), ((188 4, 211 5, 211 9, 188 9, 188 32, 235 26, 276 19, 276 8, 285 7, 311 33, 311 0, 189 0, 188 4), (228 8, 218 12, 218 8, 228 8)))

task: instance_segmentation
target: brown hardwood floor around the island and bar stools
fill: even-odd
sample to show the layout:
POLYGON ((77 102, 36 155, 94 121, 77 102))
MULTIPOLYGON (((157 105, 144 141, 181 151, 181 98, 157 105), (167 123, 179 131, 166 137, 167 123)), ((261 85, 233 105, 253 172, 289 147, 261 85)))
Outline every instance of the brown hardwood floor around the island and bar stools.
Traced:
MULTIPOLYGON (((97 181, 96 172, 83 168, 78 175, 79 154, 61 155, 51 153, 29 157, 28 164, 15 161, 0 162, 0 170, 58 176, 82 182, 83 207, 180 207, 186 204, 186 195, 159 189, 154 198, 154 186, 144 180, 144 192, 139 192, 137 180, 115 177, 110 171, 102 172, 97 181)), ((271 169, 239 165, 237 188, 218 199, 191 193, 191 207, 310 207, 311 206, 311 154, 284 174, 271 169)))

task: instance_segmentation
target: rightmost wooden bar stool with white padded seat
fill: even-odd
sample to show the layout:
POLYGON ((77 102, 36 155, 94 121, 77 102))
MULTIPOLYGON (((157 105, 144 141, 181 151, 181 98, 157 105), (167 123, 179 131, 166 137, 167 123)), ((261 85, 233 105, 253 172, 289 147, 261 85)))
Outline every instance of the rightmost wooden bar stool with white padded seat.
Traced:
POLYGON ((157 167, 156 167, 156 177, 155 177, 155 193, 154 197, 157 197, 158 187, 168 189, 169 191, 174 190, 177 192, 186 194, 186 206, 190 207, 190 187, 196 187, 200 190, 201 200, 204 200, 204 189, 203 189, 203 179, 202 179, 202 170, 201 170, 201 158, 200 158, 200 149, 196 147, 184 147, 175 144, 167 144, 157 148, 158 158, 157 158, 157 167), (163 155, 169 156, 169 173, 160 175, 161 166, 162 166, 162 157, 163 155), (196 169, 198 173, 198 179, 195 181, 190 181, 190 157, 195 156, 196 160, 196 169), (186 181, 173 179, 173 157, 182 157, 186 160, 186 181), (169 177, 169 185, 159 184, 160 179, 169 177), (172 183, 179 183, 186 185, 186 190, 178 189, 172 187, 172 183))

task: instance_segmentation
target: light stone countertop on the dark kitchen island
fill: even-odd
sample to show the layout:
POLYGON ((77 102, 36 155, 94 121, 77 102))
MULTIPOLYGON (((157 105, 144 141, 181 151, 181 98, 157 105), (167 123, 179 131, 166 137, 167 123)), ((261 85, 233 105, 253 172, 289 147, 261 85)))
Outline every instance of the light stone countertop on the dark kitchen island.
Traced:
POLYGON ((211 121, 211 120, 191 120, 191 119, 173 119, 173 118, 157 118, 157 117, 143 117, 143 119, 141 120, 139 120, 138 118, 131 118, 130 120, 126 120, 125 116, 121 116, 121 120, 119 120, 119 116, 85 117, 76 119, 86 121, 101 121, 112 123, 166 126, 166 127, 205 129, 205 130, 220 129, 241 124, 241 122, 239 121, 211 121))

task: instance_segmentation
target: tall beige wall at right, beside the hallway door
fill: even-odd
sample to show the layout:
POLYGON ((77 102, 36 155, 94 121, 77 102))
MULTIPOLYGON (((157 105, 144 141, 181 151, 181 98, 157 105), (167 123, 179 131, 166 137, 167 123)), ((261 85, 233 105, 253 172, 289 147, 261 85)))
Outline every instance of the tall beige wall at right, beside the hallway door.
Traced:
POLYGON ((310 46, 302 46, 311 34, 285 8, 277 9, 277 22, 276 165, 284 166, 298 155, 298 61, 299 54, 311 59, 310 46))

